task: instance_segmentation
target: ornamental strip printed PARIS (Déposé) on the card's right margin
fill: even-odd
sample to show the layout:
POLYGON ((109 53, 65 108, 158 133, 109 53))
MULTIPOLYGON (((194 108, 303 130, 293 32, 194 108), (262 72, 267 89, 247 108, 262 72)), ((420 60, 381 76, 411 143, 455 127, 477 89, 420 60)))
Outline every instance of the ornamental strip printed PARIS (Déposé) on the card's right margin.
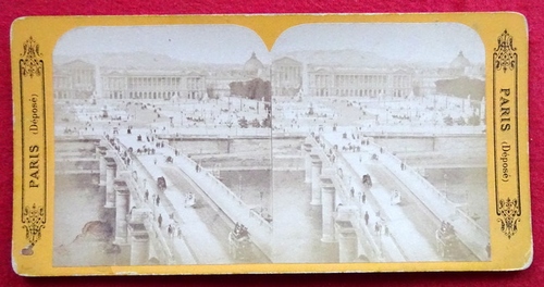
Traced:
POLYGON ((493 51, 495 212, 500 232, 511 239, 518 232, 522 212, 517 117, 518 52, 507 29, 497 37, 497 47, 493 51))

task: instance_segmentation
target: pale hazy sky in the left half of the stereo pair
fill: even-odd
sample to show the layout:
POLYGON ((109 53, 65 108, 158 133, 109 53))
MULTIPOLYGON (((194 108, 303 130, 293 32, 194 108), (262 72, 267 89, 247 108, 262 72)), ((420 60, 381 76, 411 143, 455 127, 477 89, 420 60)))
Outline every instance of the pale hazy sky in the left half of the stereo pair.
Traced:
POLYGON ((261 61, 269 52, 251 29, 235 25, 171 25, 84 27, 64 34, 54 55, 103 52, 149 52, 181 61, 245 63, 255 51, 261 61))

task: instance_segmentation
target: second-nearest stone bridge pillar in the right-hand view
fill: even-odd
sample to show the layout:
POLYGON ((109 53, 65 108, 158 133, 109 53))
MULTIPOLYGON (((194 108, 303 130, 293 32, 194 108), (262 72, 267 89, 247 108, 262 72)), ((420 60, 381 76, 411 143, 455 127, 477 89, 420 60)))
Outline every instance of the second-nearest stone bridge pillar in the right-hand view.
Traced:
POLYGON ((330 177, 321 177, 321 203, 323 216, 322 237, 323 242, 335 242, 334 238, 334 184, 330 177))

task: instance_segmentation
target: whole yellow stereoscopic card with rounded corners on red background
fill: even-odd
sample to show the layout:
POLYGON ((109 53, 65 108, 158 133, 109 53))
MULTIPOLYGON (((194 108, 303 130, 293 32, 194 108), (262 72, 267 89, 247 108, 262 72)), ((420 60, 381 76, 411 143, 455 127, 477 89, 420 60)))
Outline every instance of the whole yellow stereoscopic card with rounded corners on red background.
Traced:
POLYGON ((521 270, 516 13, 23 17, 24 276, 521 270))

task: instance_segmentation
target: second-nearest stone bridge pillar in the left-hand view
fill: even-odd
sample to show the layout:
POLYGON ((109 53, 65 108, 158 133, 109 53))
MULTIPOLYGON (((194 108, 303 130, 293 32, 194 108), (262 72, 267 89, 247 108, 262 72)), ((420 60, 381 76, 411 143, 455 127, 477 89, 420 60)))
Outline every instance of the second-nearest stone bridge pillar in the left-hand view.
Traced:
POLYGON ((127 215, 131 204, 131 192, 125 180, 115 180, 115 242, 127 244, 127 215))

